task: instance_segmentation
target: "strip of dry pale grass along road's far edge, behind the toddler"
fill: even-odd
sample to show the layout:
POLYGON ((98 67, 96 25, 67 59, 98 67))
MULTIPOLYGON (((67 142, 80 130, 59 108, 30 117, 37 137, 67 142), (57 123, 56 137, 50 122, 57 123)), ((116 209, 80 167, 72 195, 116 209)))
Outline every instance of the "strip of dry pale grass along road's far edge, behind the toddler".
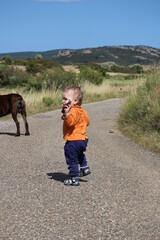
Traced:
MULTIPOLYGON (((115 75, 109 79, 104 79, 101 85, 85 82, 81 85, 84 92, 83 103, 126 97, 143 81, 144 77, 126 80, 123 76, 115 75)), ((62 91, 60 90, 42 90, 39 92, 31 90, 26 92, 22 88, 0 88, 0 94, 7 93, 19 93, 23 96, 28 115, 61 108, 62 91)))

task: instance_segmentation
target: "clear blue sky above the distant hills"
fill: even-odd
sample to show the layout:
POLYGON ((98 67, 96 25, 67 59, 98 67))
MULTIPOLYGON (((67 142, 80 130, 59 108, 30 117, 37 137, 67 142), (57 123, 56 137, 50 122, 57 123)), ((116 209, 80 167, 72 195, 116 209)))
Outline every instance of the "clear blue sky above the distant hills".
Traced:
POLYGON ((160 48, 160 0, 0 0, 0 53, 160 48))

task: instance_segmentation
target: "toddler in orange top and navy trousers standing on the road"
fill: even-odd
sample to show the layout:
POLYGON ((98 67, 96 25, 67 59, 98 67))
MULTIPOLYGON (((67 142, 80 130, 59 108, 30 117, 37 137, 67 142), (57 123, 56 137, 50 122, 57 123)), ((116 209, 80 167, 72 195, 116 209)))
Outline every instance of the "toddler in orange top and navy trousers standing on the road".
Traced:
POLYGON ((63 137, 66 140, 64 154, 69 170, 69 178, 64 185, 69 186, 79 186, 79 176, 91 173, 84 154, 88 143, 86 126, 90 120, 81 106, 82 99, 83 93, 77 86, 68 86, 62 93, 63 137))

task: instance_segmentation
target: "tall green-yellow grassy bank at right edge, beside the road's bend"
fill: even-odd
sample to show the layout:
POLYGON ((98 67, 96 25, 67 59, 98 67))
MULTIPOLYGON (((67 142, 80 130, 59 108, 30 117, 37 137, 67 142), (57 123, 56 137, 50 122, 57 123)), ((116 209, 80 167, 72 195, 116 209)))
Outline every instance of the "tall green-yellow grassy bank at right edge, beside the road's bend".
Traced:
POLYGON ((126 98, 118 122, 124 135, 160 153, 160 70, 126 98))

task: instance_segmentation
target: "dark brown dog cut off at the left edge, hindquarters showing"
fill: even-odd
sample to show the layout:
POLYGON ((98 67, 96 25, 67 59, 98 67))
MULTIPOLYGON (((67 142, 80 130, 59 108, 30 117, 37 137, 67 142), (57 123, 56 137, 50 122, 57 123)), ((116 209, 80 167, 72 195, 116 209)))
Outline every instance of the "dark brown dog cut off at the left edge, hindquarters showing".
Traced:
POLYGON ((21 113, 25 124, 25 135, 30 135, 27 122, 26 104, 22 96, 16 93, 0 95, 0 117, 12 114, 12 118, 16 123, 17 133, 20 136, 20 124, 17 119, 17 114, 21 113))

